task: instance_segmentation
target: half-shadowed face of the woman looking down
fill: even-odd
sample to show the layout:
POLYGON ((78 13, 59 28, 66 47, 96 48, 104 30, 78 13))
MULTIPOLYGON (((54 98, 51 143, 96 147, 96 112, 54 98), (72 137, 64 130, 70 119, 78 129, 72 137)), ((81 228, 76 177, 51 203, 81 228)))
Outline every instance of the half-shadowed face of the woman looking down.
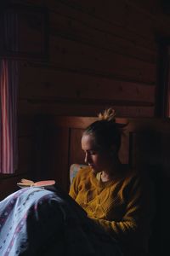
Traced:
POLYGON ((85 153, 85 163, 91 166, 94 172, 109 171, 113 159, 106 150, 99 150, 95 147, 92 135, 82 136, 82 150, 85 153), (112 159, 112 160, 111 160, 112 159))

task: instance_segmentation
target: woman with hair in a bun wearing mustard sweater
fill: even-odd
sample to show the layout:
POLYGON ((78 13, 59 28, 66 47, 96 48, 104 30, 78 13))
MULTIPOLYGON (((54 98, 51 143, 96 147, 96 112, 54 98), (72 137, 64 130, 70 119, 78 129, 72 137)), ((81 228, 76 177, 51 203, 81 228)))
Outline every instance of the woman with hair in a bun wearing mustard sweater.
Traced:
POLYGON ((121 127, 111 108, 82 135, 87 167, 77 173, 70 195, 94 223, 119 241, 128 256, 147 255, 153 198, 150 183, 122 165, 121 127))

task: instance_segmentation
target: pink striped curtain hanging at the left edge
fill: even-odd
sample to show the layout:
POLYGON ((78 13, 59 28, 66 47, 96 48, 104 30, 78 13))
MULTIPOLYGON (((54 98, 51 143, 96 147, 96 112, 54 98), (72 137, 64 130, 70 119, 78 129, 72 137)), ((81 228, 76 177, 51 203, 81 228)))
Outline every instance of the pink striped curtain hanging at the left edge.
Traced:
POLYGON ((16 61, 0 61, 0 172, 14 173, 18 162, 16 61))

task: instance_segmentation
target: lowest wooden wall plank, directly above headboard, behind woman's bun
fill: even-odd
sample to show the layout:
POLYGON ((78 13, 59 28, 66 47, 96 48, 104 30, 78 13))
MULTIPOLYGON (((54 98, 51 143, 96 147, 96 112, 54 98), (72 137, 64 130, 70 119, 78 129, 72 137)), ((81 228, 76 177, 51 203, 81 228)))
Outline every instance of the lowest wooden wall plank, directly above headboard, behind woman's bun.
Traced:
POLYGON ((154 106, 127 106, 105 103, 86 103, 80 102, 29 102, 27 100, 19 100, 20 114, 57 114, 57 115, 77 115, 77 116, 93 116, 105 108, 114 106, 119 116, 128 117, 154 117, 154 106))

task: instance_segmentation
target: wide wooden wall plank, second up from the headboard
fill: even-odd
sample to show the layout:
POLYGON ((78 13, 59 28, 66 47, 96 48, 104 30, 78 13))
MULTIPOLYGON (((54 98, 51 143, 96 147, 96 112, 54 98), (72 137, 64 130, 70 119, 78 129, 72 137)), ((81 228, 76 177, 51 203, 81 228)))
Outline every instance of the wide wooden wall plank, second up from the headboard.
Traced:
POLYGON ((20 68, 20 98, 63 97, 77 99, 154 102, 155 85, 107 79, 46 67, 20 68))

